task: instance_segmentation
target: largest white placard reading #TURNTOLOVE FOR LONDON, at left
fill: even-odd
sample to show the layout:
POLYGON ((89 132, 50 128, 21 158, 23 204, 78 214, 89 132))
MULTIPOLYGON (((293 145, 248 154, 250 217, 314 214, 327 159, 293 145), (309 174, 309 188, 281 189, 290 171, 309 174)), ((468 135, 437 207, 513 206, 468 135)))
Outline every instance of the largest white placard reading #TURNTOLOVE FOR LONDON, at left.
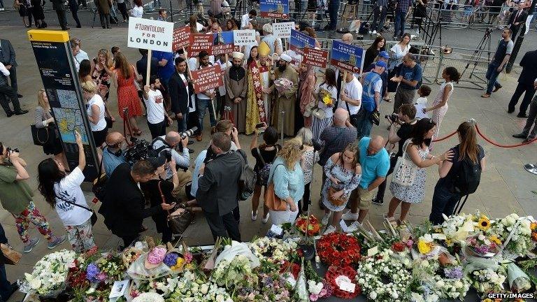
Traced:
POLYGON ((172 52, 173 23, 143 19, 129 18, 129 34, 127 46, 129 48, 143 48, 172 52))

